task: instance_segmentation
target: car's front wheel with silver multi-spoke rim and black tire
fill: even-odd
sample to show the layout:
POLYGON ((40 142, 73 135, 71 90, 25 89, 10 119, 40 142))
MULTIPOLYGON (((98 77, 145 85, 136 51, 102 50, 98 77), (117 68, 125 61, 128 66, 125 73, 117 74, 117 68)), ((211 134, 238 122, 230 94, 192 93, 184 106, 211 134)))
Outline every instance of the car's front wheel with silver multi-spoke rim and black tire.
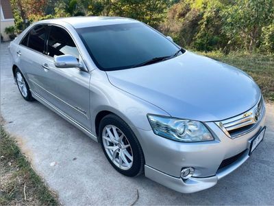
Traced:
POLYGON ((123 119, 113 114, 103 117, 99 126, 99 141, 105 157, 107 157, 115 170, 125 176, 138 176, 142 174, 145 165, 142 148, 131 128, 129 128, 123 119), (118 135, 120 138, 115 137, 114 130, 116 130, 116 136, 118 135), (109 132, 113 135, 112 139, 120 139, 116 145, 110 141, 109 132), (112 147, 113 150, 105 148, 106 146, 108 148, 112 147), (116 151, 116 153, 114 153, 114 151, 116 151), (114 161, 112 161, 113 156, 116 157, 114 161), (132 161, 130 156, 132 156, 132 161))

